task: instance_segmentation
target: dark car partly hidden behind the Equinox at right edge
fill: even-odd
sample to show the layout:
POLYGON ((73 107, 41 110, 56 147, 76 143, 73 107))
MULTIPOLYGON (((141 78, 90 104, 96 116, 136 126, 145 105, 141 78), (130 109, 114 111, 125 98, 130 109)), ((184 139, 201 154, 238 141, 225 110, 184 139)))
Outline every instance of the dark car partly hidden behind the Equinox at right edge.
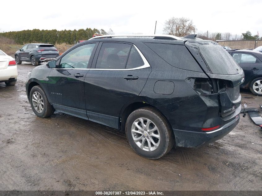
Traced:
POLYGON ((245 81, 240 88, 250 89, 253 94, 262 96, 262 53, 255 50, 229 50, 228 52, 244 70, 245 81))

